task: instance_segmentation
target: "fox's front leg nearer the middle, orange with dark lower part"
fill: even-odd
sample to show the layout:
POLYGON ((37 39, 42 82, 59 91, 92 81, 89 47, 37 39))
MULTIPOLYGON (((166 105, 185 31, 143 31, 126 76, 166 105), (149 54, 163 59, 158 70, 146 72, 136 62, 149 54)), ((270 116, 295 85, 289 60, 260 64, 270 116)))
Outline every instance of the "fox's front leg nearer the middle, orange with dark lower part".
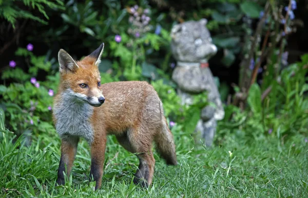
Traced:
POLYGON ((96 182, 95 190, 101 188, 104 170, 105 149, 107 138, 105 136, 94 138, 91 145, 91 170, 89 179, 96 182))

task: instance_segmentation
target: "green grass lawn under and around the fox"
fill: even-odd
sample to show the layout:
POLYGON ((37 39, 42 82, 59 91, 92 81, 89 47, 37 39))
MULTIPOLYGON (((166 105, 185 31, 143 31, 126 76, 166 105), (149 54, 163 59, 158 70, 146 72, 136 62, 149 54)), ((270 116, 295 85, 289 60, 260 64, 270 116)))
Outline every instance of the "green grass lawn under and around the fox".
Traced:
POLYGON ((32 136, 26 147, 2 133, 0 197, 308 197, 308 143, 300 135, 254 141, 235 135, 211 149, 194 147, 192 138, 173 130, 179 165, 166 166, 155 152, 152 186, 132 183, 138 159, 109 136, 102 187, 87 181, 89 146, 81 141, 72 175, 55 186, 60 139, 54 131, 32 136), (231 154, 231 153, 232 154, 231 154))

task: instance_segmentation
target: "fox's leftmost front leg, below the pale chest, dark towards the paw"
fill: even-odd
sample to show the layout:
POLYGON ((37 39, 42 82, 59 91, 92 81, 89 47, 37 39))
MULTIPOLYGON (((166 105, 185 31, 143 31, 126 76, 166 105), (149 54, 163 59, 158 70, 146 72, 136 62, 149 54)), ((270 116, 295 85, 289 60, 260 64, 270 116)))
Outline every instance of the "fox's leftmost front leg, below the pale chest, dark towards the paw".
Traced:
POLYGON ((65 172, 67 176, 70 175, 77 151, 78 141, 79 141, 78 137, 70 137, 62 139, 61 159, 56 179, 56 183, 58 185, 63 185, 65 183, 63 172, 65 172))

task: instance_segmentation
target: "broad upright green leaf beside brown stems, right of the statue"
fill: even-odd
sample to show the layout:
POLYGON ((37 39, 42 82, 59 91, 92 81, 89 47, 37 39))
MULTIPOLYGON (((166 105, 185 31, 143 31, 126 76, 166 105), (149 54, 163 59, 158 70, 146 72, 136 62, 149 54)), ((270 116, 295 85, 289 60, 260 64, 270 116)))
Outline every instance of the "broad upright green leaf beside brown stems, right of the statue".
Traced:
POLYGON ((249 89, 247 102, 255 114, 261 114, 261 89, 258 84, 253 84, 249 89))

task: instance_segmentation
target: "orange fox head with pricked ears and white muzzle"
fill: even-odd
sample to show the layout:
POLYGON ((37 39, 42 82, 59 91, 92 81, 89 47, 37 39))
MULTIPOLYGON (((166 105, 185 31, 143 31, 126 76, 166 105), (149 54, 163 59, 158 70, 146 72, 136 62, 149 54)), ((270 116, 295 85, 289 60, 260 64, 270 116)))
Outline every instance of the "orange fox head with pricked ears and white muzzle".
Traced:
POLYGON ((60 89, 65 94, 92 106, 101 106, 104 103, 99 71, 103 50, 104 43, 83 60, 74 61, 64 49, 60 49, 58 53, 60 89))

